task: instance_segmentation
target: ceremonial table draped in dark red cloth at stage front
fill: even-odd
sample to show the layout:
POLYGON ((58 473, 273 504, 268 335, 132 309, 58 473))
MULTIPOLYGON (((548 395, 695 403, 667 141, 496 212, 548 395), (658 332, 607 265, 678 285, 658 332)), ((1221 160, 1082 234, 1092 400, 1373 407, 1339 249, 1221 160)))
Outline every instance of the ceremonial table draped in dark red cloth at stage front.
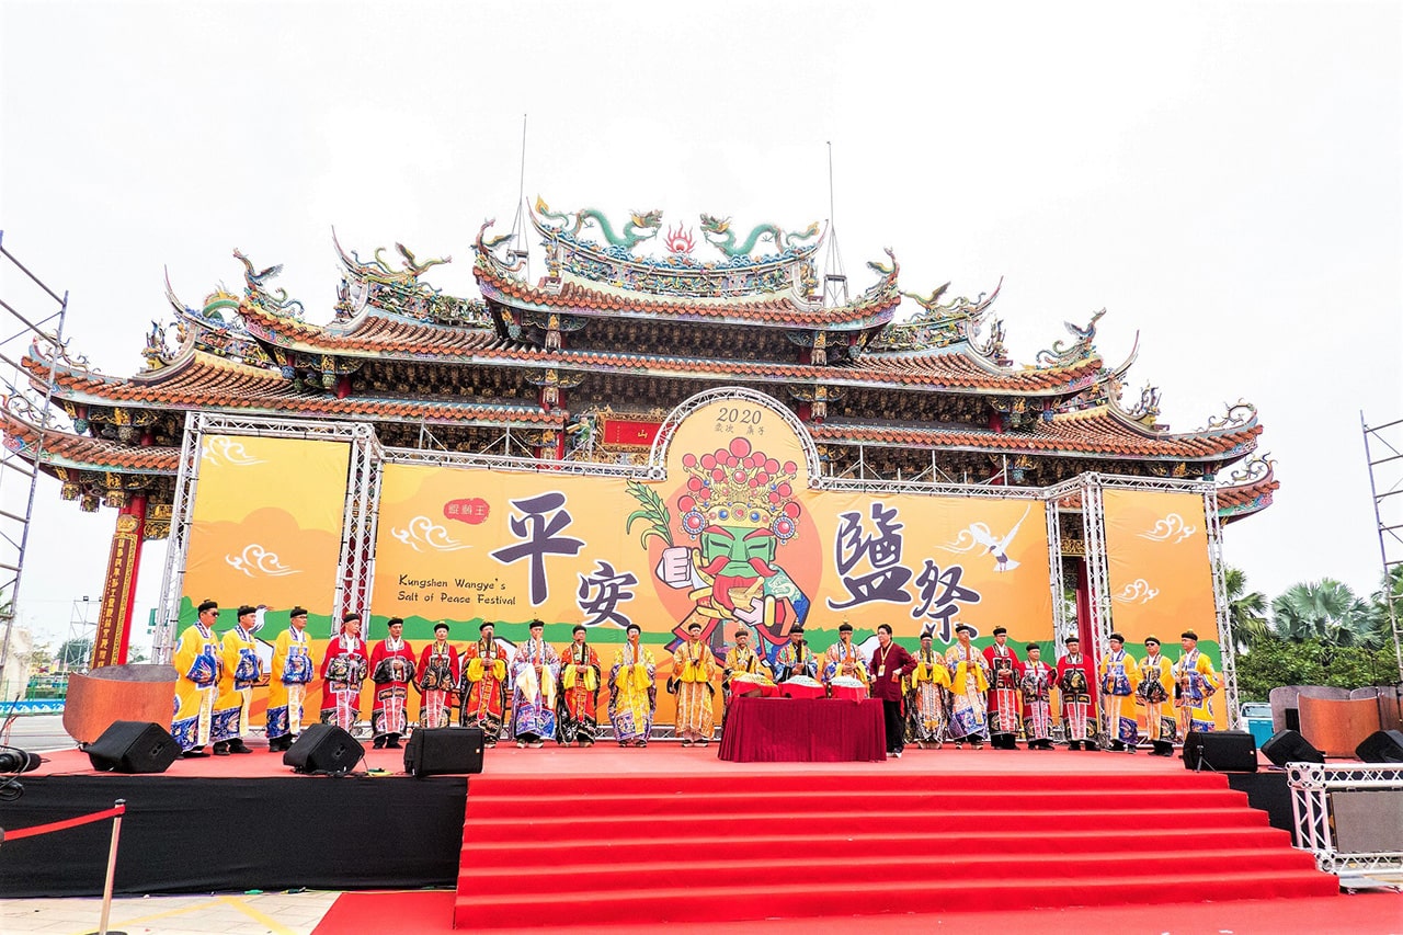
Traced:
POLYGON ((842 762, 887 758, 881 702, 737 698, 725 715, 721 760, 842 762))

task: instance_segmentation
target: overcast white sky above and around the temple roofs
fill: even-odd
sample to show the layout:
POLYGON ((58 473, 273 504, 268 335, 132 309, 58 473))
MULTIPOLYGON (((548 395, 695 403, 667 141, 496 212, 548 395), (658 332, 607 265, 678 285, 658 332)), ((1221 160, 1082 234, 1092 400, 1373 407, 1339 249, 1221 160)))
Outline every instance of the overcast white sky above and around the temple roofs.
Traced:
MULTIPOLYGON (((526 194, 741 230, 829 216, 854 289, 993 288, 1019 361, 1096 309, 1132 393, 1193 430, 1256 403, 1275 505, 1226 531, 1268 595, 1379 580, 1360 432, 1403 417, 1397 3, 0 3, 0 229, 72 296, 73 350, 130 375, 161 267, 230 257, 331 317, 330 229, 453 254, 526 194)), ((42 313, 13 275, 0 298, 42 313)), ((3 336, 0 336, 3 337, 3 336)), ((6 482, 11 484, 11 482, 6 482)), ((10 503, 13 489, 0 491, 10 503)), ((114 512, 46 483, 21 619, 62 639, 114 512)), ((139 615, 164 546, 150 545, 139 615)), ((95 614, 95 605, 94 605, 95 614)))

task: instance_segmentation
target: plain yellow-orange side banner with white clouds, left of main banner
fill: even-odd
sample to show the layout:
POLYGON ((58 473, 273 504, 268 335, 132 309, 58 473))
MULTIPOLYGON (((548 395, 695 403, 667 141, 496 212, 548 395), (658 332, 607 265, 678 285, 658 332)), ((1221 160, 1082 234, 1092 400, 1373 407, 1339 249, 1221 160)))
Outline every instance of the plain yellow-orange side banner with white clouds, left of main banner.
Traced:
MULTIPOLYGON (((219 601, 219 629, 234 608, 260 608, 271 640, 302 605, 321 628, 331 615, 351 446, 296 438, 206 435, 191 510, 180 608, 219 601)), ((323 633, 317 633, 318 636, 323 633)))

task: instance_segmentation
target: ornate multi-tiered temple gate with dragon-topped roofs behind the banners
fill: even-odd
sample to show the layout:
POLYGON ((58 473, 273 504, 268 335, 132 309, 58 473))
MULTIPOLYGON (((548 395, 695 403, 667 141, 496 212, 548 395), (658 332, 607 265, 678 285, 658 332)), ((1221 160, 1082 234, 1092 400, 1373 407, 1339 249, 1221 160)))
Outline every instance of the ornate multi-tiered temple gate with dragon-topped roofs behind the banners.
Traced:
MULTIPOLYGON (((537 201, 525 230, 474 241, 480 298, 429 285, 432 267, 397 244, 362 260, 334 247, 342 278, 330 321, 276 288, 281 267, 244 254, 244 288, 199 307, 167 284, 171 317, 146 337, 146 368, 91 369, 66 348, 34 347, 22 365, 70 425, 43 431, 21 397, 3 410, 6 444, 60 482, 80 510, 118 512, 94 664, 125 661, 140 545, 170 532, 189 411, 369 423, 383 445, 536 459, 641 463, 666 414, 707 389, 742 386, 787 406, 810 430, 826 475, 881 482, 1042 487, 1083 472, 1216 479, 1221 519, 1271 503, 1261 425, 1239 403, 1204 428, 1159 421, 1159 390, 1127 402, 1134 362, 1108 364, 1085 327, 1013 362, 993 317, 998 288, 905 292, 890 251, 871 284, 824 300, 818 225, 759 225, 744 237, 703 215, 664 229, 633 213, 616 232, 595 209, 537 201), (700 230, 700 236, 697 236, 700 230), (699 260, 711 250, 716 257, 699 260), (909 303, 908 303, 909 300, 909 303), (898 312, 908 303, 908 314, 898 312), (1236 466, 1236 468, 1235 468, 1236 466)), ((846 292, 846 289, 845 289, 846 292)), ((1078 543, 1063 542, 1075 559, 1078 543)))

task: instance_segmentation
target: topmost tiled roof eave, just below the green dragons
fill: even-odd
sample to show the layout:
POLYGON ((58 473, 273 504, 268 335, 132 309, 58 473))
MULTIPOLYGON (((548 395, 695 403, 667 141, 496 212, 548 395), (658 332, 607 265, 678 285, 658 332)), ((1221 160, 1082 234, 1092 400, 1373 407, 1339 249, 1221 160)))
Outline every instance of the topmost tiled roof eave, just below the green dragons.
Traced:
POLYGON ((477 277, 478 291, 488 302, 521 310, 579 316, 624 314, 665 321, 863 331, 890 323, 901 305, 901 296, 894 292, 864 293, 857 302, 833 309, 810 307, 808 303, 798 306, 790 296, 721 305, 700 300, 665 302, 623 289, 603 291, 596 284, 574 277, 563 279, 558 289, 536 288, 484 263, 474 265, 473 274, 477 277))

